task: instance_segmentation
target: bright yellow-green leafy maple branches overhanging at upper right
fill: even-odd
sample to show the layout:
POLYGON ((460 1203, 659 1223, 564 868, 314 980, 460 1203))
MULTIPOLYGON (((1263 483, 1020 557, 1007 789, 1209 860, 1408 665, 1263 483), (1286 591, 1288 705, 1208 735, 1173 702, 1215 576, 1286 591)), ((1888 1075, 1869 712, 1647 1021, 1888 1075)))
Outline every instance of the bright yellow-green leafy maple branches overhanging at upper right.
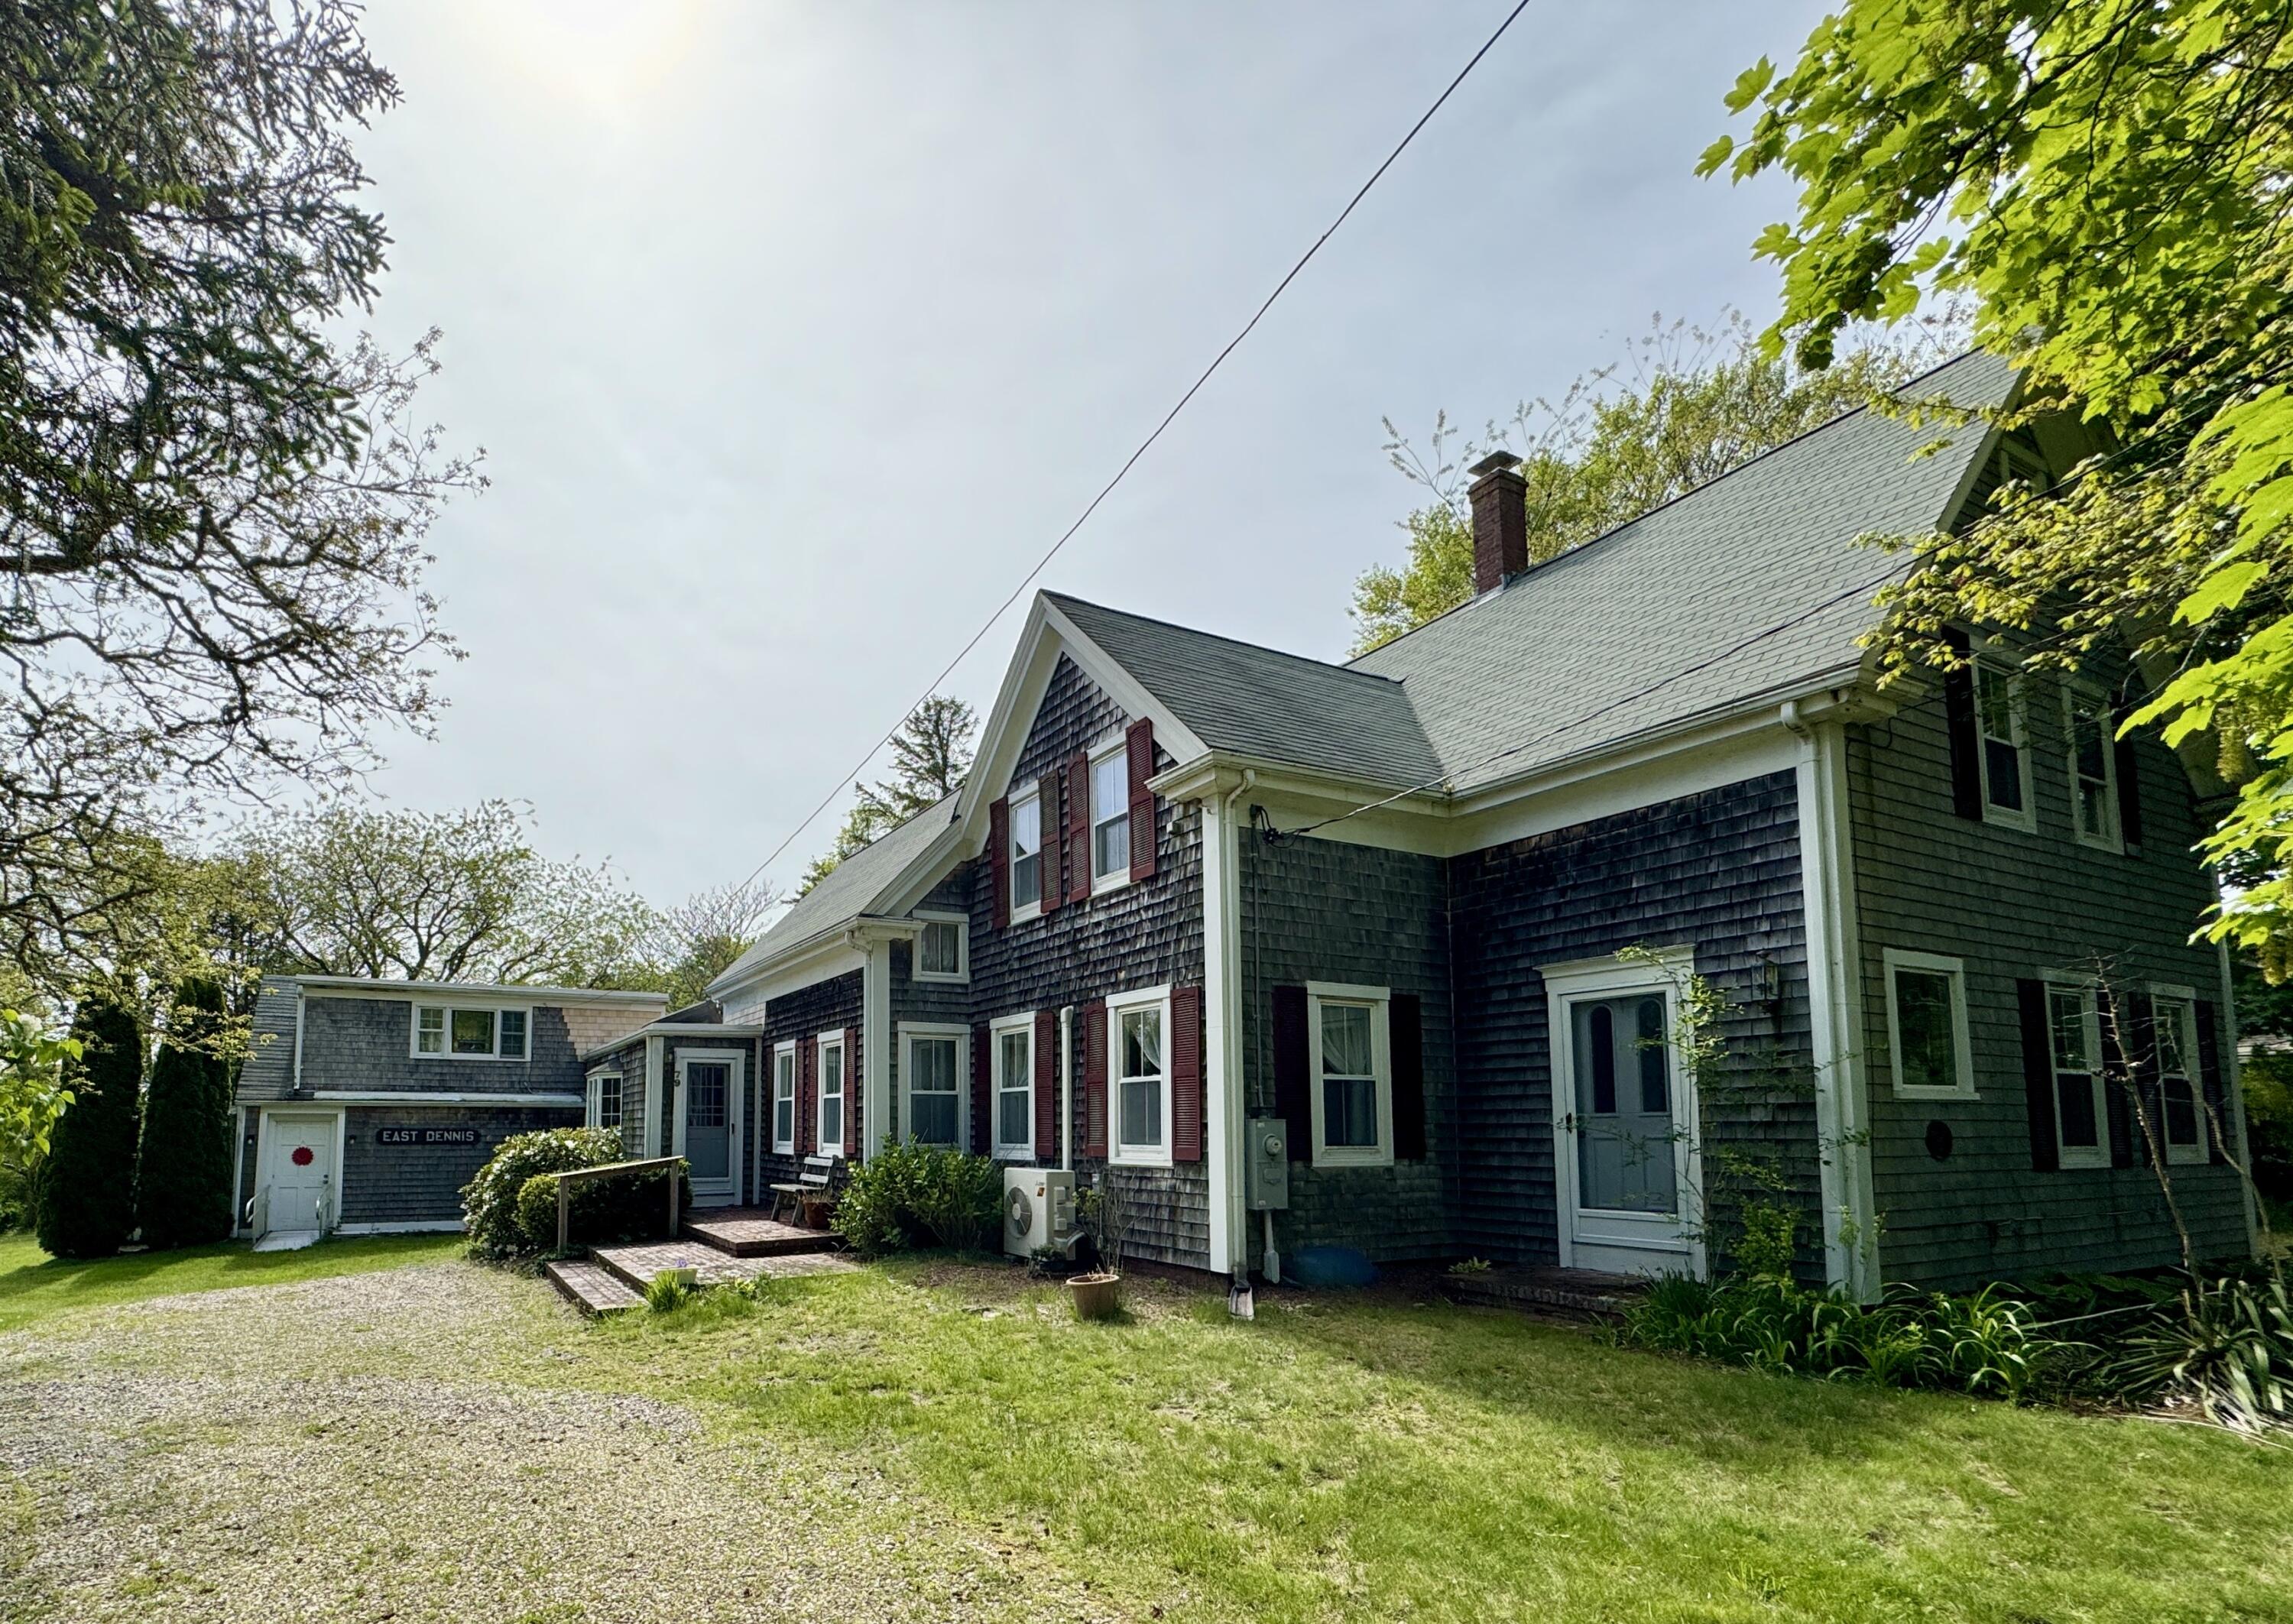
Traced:
POLYGON ((1915 537, 1892 672, 1958 622, 2041 663, 2130 654, 2236 874, 2215 931, 2293 961, 2293 9, 2282 0, 1846 0, 1729 106, 1704 167, 1800 186, 1759 252, 1782 351, 1933 298, 2025 369, 2004 424, 2082 413, 2098 445, 1958 537, 1915 537))

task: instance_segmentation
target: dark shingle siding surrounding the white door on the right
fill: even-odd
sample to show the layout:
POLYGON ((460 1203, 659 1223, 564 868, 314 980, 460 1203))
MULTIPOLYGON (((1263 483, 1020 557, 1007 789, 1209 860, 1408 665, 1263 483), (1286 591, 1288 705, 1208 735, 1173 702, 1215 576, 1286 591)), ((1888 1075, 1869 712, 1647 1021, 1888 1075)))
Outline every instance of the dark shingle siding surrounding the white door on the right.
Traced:
MULTIPOLYGON (((1802 1211, 1800 1264, 1821 1280, 1793 775, 1454 858, 1449 885, 1463 1140, 1458 1248, 1557 1262, 1552 1073, 1536 966, 1692 943, 1697 973, 1734 1005, 1729 1064, 1750 1073, 1745 1083, 1768 1071, 1793 1080, 1752 1096, 1706 1090, 1706 1190, 1720 1195, 1717 1145, 1777 1158, 1802 1211), (1775 986, 1779 1000, 1770 1000, 1775 986)), ((1426 1087, 1438 1087, 1431 1067, 1426 1087)), ((1731 1213, 1713 1200, 1704 1216, 1720 1250, 1731 1213)))

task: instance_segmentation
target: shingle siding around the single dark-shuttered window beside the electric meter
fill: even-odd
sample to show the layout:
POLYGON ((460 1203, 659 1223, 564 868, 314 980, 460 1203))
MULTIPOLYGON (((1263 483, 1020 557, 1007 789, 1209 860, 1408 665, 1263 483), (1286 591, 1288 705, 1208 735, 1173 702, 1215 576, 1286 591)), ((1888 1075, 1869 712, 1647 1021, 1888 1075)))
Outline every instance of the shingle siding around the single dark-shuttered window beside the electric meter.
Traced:
MULTIPOLYGON (((1449 1046, 1449 897, 1440 858, 1335 840, 1241 842, 1243 1099, 1273 1115, 1273 989, 1353 982, 1415 993, 1424 1007, 1426 1158, 1392 1168, 1312 1165, 1309 1122, 1291 1124, 1291 1204, 1275 1241, 1357 1246, 1376 1262, 1456 1250, 1456 1090, 1449 1046)), ((1250 1218, 1250 1264, 1263 1223, 1250 1218)))

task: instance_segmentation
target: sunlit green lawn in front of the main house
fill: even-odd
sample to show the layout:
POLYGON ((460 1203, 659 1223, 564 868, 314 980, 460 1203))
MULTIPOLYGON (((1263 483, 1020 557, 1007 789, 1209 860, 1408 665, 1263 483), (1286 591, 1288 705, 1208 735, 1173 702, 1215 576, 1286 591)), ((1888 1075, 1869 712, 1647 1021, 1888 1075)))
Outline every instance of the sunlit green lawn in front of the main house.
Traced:
POLYGON ((1085 1326, 1011 1271, 910 1259, 633 1314, 569 1374, 846 1450, 1124 1615, 2293 1617, 2293 1450, 1399 1296, 1257 1324, 1142 1296, 1085 1326))

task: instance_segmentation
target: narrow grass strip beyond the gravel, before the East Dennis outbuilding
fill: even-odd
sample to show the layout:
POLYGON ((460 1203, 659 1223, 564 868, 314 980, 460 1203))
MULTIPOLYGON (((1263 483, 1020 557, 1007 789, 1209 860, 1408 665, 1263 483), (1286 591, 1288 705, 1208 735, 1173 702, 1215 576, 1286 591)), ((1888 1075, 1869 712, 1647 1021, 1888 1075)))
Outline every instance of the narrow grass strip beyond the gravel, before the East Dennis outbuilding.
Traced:
POLYGON ((0 1330, 16 1330, 73 1307, 135 1303, 147 1296, 397 1268, 452 1257, 461 1246, 459 1234, 374 1234, 321 1241, 300 1252, 255 1252, 245 1241, 222 1241, 179 1252, 69 1262, 48 1257, 30 1234, 0 1234, 0 1330))

